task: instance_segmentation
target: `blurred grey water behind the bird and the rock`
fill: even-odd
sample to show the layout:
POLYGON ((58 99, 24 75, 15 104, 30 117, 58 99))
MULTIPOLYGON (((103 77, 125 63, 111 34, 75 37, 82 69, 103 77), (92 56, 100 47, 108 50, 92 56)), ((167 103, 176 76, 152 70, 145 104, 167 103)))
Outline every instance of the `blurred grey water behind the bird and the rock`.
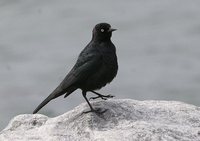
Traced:
MULTIPOLYGON (((32 113, 108 22, 119 58, 117 78, 100 90, 117 98, 178 100, 200 106, 200 1, 1 0, 0 129, 32 113)), ((50 102, 55 116, 85 102, 80 91, 50 102)))

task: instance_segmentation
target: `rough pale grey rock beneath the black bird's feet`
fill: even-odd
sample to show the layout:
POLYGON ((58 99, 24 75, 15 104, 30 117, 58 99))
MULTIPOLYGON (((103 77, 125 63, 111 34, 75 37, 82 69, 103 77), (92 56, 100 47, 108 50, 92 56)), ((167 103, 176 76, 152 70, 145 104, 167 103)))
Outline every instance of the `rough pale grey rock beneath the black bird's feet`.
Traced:
POLYGON ((94 101, 55 118, 14 117, 0 141, 200 141, 200 108, 175 101, 94 101))

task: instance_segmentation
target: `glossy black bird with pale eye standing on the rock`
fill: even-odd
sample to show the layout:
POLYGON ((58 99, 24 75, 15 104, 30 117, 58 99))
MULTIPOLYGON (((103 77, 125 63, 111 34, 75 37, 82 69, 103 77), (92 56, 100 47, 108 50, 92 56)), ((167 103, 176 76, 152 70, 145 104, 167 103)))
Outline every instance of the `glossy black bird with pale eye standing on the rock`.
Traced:
POLYGON ((115 30, 108 23, 99 23, 93 28, 92 40, 80 53, 74 67, 59 86, 33 111, 33 114, 52 99, 64 94, 64 98, 66 98, 78 88, 82 90, 82 95, 92 112, 96 112, 96 110, 86 97, 88 91, 97 95, 92 99, 102 98, 106 100, 113 97, 112 95, 99 94, 94 90, 110 83, 117 74, 116 49, 110 39, 115 30))

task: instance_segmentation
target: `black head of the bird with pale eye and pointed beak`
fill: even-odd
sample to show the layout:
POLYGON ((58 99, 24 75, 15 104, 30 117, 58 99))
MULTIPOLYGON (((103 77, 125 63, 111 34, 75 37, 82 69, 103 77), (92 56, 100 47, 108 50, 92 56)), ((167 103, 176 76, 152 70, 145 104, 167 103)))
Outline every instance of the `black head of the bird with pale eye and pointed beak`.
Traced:
POLYGON ((110 41, 112 32, 116 29, 111 28, 108 23, 97 24, 92 31, 92 40, 110 41))

